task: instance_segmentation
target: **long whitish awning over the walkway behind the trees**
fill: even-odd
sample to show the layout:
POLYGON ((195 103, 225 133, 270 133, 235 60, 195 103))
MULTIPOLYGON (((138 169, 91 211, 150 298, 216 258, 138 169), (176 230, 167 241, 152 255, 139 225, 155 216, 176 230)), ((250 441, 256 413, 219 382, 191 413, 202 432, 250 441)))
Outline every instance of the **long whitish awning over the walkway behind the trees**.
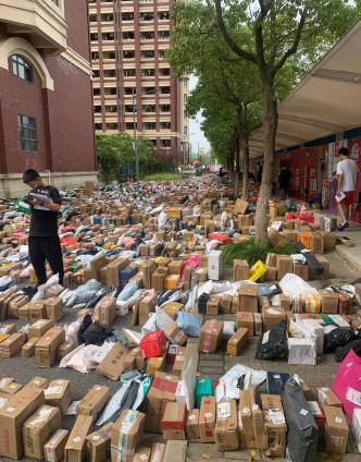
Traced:
MULTIPOLYGON (((278 107, 276 150, 361 125, 361 19, 278 107)), ((263 154, 263 130, 250 156, 263 154)))

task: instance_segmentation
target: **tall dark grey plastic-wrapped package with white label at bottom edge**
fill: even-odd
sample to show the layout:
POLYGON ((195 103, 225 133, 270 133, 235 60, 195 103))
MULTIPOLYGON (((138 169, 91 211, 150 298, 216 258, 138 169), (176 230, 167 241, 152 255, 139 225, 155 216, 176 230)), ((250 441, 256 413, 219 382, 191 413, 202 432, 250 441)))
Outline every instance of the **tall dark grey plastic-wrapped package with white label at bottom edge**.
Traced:
POLYGON ((286 381, 282 403, 288 428, 286 459, 291 462, 313 461, 318 450, 319 427, 296 380, 286 381))

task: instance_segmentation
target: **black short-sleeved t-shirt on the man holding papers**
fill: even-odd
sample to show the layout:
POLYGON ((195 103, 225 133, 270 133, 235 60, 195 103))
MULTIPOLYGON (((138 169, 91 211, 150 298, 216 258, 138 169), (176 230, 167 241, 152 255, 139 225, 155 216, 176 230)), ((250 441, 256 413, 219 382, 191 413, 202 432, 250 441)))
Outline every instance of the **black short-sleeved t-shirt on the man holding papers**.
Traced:
MULTIPOLYGON (((45 186, 32 190, 28 198, 34 200, 32 193, 41 194, 42 196, 50 197, 53 204, 61 205, 61 195, 57 187, 45 186)), ((41 210, 41 208, 33 207, 32 221, 30 221, 30 235, 33 236, 54 236, 58 235, 58 211, 41 210)))

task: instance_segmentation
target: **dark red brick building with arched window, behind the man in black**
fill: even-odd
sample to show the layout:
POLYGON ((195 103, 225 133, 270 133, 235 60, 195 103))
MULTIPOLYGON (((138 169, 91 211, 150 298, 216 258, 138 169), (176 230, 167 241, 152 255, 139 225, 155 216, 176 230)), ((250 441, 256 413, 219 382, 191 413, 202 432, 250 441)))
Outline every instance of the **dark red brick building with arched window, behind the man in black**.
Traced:
POLYGON ((88 0, 0 0, 0 197, 96 180, 88 0))

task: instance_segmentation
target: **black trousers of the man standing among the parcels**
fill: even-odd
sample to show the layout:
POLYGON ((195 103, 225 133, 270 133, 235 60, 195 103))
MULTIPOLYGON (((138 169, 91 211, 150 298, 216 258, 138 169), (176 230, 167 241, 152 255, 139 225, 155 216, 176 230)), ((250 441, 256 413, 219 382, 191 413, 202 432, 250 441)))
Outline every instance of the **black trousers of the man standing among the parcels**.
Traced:
POLYGON ((64 267, 63 255, 59 236, 36 238, 29 236, 29 257, 35 269, 38 284, 47 282, 47 272, 45 269, 46 260, 49 263, 53 275, 59 273, 59 283, 63 283, 64 267))

